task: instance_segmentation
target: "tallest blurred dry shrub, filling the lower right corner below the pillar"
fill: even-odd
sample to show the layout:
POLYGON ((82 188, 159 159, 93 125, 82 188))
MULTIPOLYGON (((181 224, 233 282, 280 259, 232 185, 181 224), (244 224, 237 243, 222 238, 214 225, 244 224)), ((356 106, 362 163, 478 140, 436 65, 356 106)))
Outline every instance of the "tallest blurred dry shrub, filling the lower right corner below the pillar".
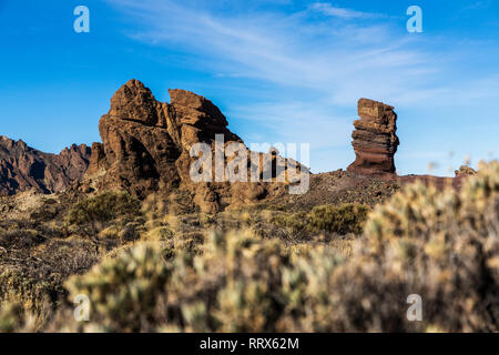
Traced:
POLYGON ((377 206, 337 272, 342 329, 499 331, 499 163, 459 193, 414 184, 377 206), (408 323, 409 294, 422 322, 408 323))

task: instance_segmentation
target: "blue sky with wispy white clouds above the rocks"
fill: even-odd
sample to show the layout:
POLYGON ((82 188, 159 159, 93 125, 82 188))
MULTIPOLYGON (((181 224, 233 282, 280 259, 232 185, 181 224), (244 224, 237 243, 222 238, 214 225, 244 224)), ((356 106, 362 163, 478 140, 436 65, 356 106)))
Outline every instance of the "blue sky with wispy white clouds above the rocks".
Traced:
POLYGON ((135 78, 211 99, 247 144, 310 143, 313 172, 354 160, 359 98, 396 108, 399 174, 499 158, 499 1, 0 0, 0 134, 40 150, 100 141, 135 78))

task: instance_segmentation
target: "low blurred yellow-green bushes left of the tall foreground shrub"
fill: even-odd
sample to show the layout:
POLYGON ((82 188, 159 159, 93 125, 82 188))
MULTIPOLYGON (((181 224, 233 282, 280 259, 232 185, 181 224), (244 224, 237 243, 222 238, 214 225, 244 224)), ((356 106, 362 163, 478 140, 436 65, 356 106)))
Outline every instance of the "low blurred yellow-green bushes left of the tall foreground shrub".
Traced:
POLYGON ((68 287, 70 298, 91 300, 91 322, 81 323, 82 329, 301 329, 304 302, 327 294, 316 290, 327 287, 322 281, 307 284, 317 277, 318 263, 327 277, 338 260, 320 248, 293 262, 276 240, 213 234, 201 255, 181 252, 165 263, 161 244, 145 243, 71 278, 68 287))

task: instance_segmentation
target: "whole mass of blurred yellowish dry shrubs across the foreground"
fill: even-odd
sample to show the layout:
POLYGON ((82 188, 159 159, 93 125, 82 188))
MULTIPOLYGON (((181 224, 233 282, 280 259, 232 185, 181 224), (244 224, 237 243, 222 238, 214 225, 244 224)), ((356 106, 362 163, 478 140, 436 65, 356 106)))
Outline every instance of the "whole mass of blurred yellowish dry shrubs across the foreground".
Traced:
POLYGON ((248 231, 213 233, 200 253, 167 256, 169 233, 154 233, 162 242, 70 280, 70 298, 91 300, 90 322, 60 316, 47 328, 499 331, 499 163, 480 166, 460 192, 408 186, 370 213, 348 258, 319 244, 293 253, 248 231), (421 322, 407 320, 410 294, 422 298, 421 322))

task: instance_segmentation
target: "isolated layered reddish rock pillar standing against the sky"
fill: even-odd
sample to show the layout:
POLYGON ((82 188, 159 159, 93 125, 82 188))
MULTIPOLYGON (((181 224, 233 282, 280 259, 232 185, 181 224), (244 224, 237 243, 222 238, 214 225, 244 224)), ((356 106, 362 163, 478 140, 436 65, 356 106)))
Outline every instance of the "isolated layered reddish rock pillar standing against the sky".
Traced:
POLYGON ((370 176, 395 178, 394 155, 399 144, 394 108, 368 99, 358 101, 359 120, 352 134, 356 160, 348 171, 370 176))

